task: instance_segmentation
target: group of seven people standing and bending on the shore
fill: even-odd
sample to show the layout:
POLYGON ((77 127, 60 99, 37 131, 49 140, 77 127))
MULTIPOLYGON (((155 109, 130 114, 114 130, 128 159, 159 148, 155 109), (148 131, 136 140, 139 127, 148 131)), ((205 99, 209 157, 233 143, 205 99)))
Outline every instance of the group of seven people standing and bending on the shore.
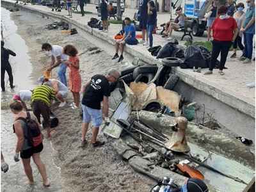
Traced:
MULTIPOLYGON (((59 100, 59 107, 65 106, 67 102, 65 99, 68 97, 67 78, 65 72, 67 67, 69 70, 69 87, 74 97, 74 102, 70 104, 72 109, 79 108, 81 102, 83 108, 83 125, 80 147, 84 147, 88 143, 86 139, 86 133, 90 122, 92 121, 92 145, 93 147, 99 147, 104 145, 104 141, 97 140, 99 133, 99 127, 102 124, 102 111, 100 109, 100 102, 103 101, 103 114, 106 123, 109 123, 108 115, 108 97, 110 96, 109 82, 115 83, 120 77, 120 72, 116 69, 109 70, 108 74, 95 75, 89 79, 83 86, 83 99, 80 101, 81 91, 81 75, 79 74, 79 57, 77 56, 77 49, 74 45, 65 45, 61 47, 59 45, 51 45, 48 43, 42 44, 44 51, 51 53, 51 63, 47 68, 51 71, 55 67, 59 67, 58 77, 60 79, 49 79, 41 76, 38 78, 38 86, 33 90, 20 90, 13 96, 12 102, 10 102, 10 109, 13 114, 17 115, 13 122, 13 131, 17 136, 17 145, 15 148, 15 154, 13 159, 17 162, 19 157, 22 159, 24 171, 28 177, 29 184, 34 184, 32 168, 30 165, 30 159, 33 157, 38 171, 40 172, 43 185, 49 186, 50 182, 47 179, 47 173, 45 165, 40 159, 40 152, 42 152, 44 145, 31 146, 28 145, 28 139, 26 136, 29 131, 27 124, 20 120, 20 117, 26 118, 28 115, 26 111, 26 101, 31 101, 33 112, 29 112, 29 118, 35 120, 38 129, 41 130, 40 116, 44 119, 44 127, 46 129, 47 140, 52 136, 51 131, 51 108, 54 100, 59 100)), ((10 63, 9 63, 10 64, 10 63)), ((4 158, 1 157, 1 168, 4 172, 8 170, 8 164, 4 162, 4 158)))

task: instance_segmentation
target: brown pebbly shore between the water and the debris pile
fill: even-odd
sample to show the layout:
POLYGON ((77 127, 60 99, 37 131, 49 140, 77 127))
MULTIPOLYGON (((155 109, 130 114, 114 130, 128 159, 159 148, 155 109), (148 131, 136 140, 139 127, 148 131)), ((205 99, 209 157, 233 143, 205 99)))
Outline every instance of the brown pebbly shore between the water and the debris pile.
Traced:
MULTIPOLYGON (((46 29, 46 25, 51 24, 53 20, 36 17, 26 12, 15 12, 12 14, 12 19, 18 26, 17 33, 24 38, 29 47, 29 56, 33 64, 31 76, 35 82, 51 61, 49 52, 41 51, 44 42, 61 46, 74 44, 77 47, 82 83, 94 74, 106 74, 110 68, 119 70, 124 68, 113 62, 111 56, 104 50, 99 54, 92 54, 88 48, 94 46, 81 36, 61 33, 61 29, 46 29)), ((52 78, 56 78, 57 70, 58 68, 52 72, 52 78)), ((73 101, 71 92, 67 101, 68 104, 64 108, 58 108, 58 104, 52 108, 60 124, 54 129, 51 138, 54 152, 52 156, 49 154, 47 157, 53 158, 54 163, 60 167, 64 181, 63 191, 149 191, 156 181, 132 170, 129 164, 116 155, 108 143, 100 148, 93 148, 90 143, 86 148, 79 148, 82 120, 79 118, 79 110, 69 107, 73 101)), ((91 137, 92 131, 89 129, 87 140, 90 141, 91 137)), ((99 134, 99 139, 106 140, 102 132, 99 134)), ((47 155, 44 152, 44 156, 47 155)), ((51 169, 49 166, 46 168, 51 169)), ((26 177, 23 170, 19 170, 19 174, 26 177)), ((49 179, 54 180, 54 175, 49 175, 49 179)), ((54 189, 54 183, 51 186, 54 189)))

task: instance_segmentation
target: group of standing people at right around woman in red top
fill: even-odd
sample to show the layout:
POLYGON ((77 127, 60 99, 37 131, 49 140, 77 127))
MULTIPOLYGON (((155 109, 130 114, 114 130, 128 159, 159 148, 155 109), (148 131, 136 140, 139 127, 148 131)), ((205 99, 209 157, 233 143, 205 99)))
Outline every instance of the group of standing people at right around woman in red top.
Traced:
POLYGON ((212 12, 207 20, 208 39, 212 42, 210 67, 205 75, 212 74, 216 60, 221 54, 219 74, 224 75, 223 68, 227 60, 230 47, 233 45, 234 53, 231 58, 236 58, 237 45, 243 52, 237 58, 243 63, 252 63, 253 35, 255 35, 255 0, 246 1, 248 9, 244 12, 244 4, 236 6, 228 0, 227 6, 218 8, 218 1, 214 0, 207 12, 212 12), (218 8, 218 10, 217 10, 218 8), (242 44, 244 39, 244 45, 242 44))

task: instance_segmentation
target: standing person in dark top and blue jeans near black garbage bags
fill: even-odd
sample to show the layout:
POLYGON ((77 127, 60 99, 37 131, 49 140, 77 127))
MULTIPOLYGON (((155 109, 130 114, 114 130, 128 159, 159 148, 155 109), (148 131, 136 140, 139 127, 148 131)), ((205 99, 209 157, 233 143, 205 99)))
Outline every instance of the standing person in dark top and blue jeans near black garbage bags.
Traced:
POLYGON ((149 45, 147 48, 153 46, 153 31, 156 26, 156 6, 154 1, 148 1, 148 20, 147 20, 147 32, 148 32, 148 39, 149 45))

